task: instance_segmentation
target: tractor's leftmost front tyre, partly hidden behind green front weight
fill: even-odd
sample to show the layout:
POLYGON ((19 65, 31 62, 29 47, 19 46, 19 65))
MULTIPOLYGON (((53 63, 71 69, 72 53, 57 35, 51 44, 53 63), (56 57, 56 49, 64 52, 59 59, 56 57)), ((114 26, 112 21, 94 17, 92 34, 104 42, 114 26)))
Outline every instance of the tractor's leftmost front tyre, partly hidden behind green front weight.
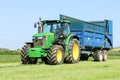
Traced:
POLYGON ((31 48, 31 46, 27 44, 21 50, 22 64, 36 64, 37 63, 36 58, 29 58, 29 56, 28 56, 28 49, 29 48, 31 48))

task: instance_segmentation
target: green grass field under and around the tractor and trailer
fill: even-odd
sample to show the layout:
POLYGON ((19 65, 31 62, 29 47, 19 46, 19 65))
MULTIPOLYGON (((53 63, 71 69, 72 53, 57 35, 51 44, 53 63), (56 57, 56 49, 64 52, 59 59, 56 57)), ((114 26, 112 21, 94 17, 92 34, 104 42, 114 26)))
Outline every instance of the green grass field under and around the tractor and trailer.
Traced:
POLYGON ((77 64, 22 65, 19 55, 0 55, 2 80, 120 80, 120 56, 106 62, 80 61, 77 64))

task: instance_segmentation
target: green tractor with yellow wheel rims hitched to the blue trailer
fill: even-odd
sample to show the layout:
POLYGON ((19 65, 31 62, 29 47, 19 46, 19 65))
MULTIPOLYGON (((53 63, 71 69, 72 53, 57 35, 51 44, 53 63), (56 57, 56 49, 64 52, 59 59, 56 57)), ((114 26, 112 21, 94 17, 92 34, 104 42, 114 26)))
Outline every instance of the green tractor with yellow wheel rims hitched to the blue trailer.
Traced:
POLYGON ((22 48, 22 64, 36 64, 38 59, 52 65, 79 62, 80 42, 70 33, 70 21, 40 19, 34 26, 38 33, 22 48))

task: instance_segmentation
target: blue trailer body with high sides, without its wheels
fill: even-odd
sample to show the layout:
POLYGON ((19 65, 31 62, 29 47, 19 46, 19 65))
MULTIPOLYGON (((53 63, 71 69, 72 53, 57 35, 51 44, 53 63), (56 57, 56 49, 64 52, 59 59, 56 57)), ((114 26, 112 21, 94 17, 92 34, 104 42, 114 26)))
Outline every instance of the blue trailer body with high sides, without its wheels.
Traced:
POLYGON ((65 15, 60 20, 70 21, 70 32, 77 35, 82 51, 109 50, 113 47, 112 21, 86 22, 65 15))

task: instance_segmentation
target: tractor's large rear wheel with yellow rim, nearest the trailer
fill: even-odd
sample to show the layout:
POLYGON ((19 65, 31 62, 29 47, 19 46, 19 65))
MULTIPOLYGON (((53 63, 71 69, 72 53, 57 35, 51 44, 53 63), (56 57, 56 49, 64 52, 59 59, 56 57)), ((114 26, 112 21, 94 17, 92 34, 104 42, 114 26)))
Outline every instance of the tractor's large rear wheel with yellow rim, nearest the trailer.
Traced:
POLYGON ((78 63, 80 60, 80 45, 77 39, 70 40, 68 44, 69 54, 65 58, 66 63, 78 63))

